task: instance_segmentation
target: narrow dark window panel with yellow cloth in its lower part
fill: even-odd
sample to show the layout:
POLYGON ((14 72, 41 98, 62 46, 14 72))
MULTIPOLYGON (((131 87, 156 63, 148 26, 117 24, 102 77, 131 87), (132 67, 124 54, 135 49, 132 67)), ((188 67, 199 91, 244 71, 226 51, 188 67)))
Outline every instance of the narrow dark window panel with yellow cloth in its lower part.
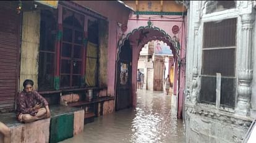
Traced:
POLYGON ((88 20, 88 44, 85 57, 85 84, 86 86, 98 86, 98 22, 88 20))

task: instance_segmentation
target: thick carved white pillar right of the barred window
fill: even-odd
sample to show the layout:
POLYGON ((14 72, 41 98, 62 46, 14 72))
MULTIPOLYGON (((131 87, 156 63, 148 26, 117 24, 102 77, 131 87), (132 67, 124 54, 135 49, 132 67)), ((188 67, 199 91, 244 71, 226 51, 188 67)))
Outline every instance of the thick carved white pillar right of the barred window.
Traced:
POLYGON ((252 94, 252 28, 254 14, 242 15, 241 65, 238 71, 238 101, 235 109, 237 115, 249 115, 250 96, 252 94))

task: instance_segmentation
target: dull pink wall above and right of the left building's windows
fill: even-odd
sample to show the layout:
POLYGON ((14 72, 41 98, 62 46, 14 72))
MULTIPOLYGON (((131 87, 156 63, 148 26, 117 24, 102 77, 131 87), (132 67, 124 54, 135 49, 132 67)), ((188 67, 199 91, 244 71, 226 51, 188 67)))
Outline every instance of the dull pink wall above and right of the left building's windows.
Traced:
POLYGON ((127 25, 130 9, 117 1, 73 1, 103 15, 109 22, 108 30, 108 96, 115 95, 117 22, 127 25))

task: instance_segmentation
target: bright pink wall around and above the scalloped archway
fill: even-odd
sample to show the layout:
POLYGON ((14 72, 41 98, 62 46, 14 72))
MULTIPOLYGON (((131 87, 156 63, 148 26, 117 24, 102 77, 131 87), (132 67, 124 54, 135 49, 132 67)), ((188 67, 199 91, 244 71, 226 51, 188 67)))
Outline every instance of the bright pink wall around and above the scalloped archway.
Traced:
MULTIPOLYGON (((130 33, 130 31, 137 29, 141 26, 147 26, 148 18, 149 17, 156 17, 156 15, 139 15, 139 20, 137 20, 136 15, 132 15, 132 17, 129 18, 128 20, 128 30, 126 32, 130 33)), ((153 23, 153 27, 158 27, 160 30, 164 30, 166 33, 168 33, 171 38, 173 38, 174 34, 172 31, 172 28, 174 25, 177 25, 179 27, 179 33, 176 34, 177 38, 179 38, 179 42, 181 44, 181 51, 179 51, 179 54, 181 54, 181 59, 186 57, 186 43, 185 43, 185 30, 186 30, 186 25, 185 27, 182 26, 182 16, 181 15, 164 15, 164 18, 150 18, 151 22, 153 23)), ((185 22, 187 17, 185 16, 185 22)), ((139 59, 139 52, 141 51, 142 47, 137 47, 133 46, 133 52, 132 52, 132 75, 137 75, 137 63, 139 59)), ((177 93, 177 80, 178 80, 178 65, 177 61, 174 61, 174 94, 176 95, 177 93)), ((168 69, 169 70, 169 69, 168 69)), ((183 104, 183 90, 185 86, 185 66, 181 66, 181 73, 180 73, 180 88, 179 88, 179 100, 178 100, 178 115, 181 115, 182 112, 182 104, 183 104)), ((136 95, 136 79, 137 76, 132 76, 132 99, 133 99, 133 105, 135 107, 137 101, 137 95, 136 95)))

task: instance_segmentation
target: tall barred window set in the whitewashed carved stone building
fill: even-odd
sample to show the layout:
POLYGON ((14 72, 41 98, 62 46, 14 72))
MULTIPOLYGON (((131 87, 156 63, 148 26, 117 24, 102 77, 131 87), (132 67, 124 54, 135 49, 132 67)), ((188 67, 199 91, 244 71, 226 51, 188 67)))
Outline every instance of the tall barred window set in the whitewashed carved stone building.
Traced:
POLYGON ((216 73, 221 73, 221 105, 234 107, 236 23, 236 18, 204 23, 200 102, 215 104, 216 73))

